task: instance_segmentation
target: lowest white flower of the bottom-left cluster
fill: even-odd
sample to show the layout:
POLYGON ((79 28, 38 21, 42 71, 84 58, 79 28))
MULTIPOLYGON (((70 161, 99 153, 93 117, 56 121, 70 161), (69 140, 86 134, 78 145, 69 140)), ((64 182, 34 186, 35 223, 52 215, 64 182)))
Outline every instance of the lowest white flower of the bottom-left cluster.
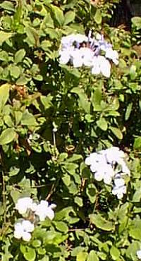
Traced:
POLYGON ((35 229, 35 226, 29 220, 21 219, 14 225, 14 229, 13 235, 15 238, 23 238, 24 241, 30 241, 31 232, 35 229))

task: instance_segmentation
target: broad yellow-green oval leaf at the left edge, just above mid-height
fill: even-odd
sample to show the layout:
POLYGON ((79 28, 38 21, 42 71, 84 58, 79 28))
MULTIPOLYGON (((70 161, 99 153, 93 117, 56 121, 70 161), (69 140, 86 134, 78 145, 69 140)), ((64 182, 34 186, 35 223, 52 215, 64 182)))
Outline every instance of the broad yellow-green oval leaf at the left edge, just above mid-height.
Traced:
POLYGON ((0 135, 0 145, 12 142, 16 138, 16 132, 13 128, 6 128, 0 135))

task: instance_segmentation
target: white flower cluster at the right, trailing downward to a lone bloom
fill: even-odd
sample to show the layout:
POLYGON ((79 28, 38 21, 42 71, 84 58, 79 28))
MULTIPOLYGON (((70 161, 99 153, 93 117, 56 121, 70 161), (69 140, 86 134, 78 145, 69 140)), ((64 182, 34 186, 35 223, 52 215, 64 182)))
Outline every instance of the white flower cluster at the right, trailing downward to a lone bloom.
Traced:
POLYGON ((85 164, 90 166, 97 181, 104 181, 105 184, 114 185, 112 193, 118 199, 123 198, 126 193, 126 186, 123 176, 130 175, 130 170, 125 163, 125 154, 118 147, 110 147, 106 150, 91 153, 85 159, 85 164))

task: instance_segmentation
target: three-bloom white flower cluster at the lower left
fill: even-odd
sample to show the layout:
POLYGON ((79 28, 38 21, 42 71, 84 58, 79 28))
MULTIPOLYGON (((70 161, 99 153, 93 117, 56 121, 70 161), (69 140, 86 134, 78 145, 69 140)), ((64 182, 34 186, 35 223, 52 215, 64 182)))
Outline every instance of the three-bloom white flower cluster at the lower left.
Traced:
POLYGON ((46 200, 41 200, 38 204, 34 202, 32 198, 25 197, 19 198, 16 203, 16 210, 19 214, 26 217, 26 219, 20 219, 14 225, 14 237, 23 238, 24 241, 30 241, 31 232, 35 229, 35 222, 37 220, 44 221, 46 217, 54 219, 55 204, 49 205, 46 200), (32 221, 28 220, 32 216, 32 221))

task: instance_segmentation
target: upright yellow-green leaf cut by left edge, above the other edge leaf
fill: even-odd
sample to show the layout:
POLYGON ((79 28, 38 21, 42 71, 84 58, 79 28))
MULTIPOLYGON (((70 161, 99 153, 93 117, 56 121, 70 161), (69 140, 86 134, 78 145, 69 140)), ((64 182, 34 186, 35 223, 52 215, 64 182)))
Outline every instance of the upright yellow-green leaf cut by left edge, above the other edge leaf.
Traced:
POLYGON ((8 83, 1 85, 0 87, 0 111, 8 100, 10 87, 11 85, 9 85, 8 83))

